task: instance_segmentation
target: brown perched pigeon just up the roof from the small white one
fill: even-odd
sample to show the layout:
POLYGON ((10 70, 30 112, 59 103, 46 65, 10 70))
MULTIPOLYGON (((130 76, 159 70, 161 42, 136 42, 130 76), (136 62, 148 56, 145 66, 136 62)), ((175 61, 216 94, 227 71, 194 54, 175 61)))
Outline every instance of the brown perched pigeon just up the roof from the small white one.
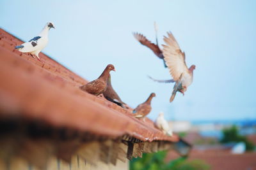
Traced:
POLYGON ((137 108, 135 108, 133 110, 133 113, 135 113, 133 116, 136 118, 142 118, 143 122, 145 122, 145 117, 148 115, 148 113, 150 113, 151 111, 151 101, 152 98, 156 97, 155 93, 150 94, 150 96, 148 97, 147 101, 145 101, 144 103, 141 103, 140 105, 137 106, 137 108))

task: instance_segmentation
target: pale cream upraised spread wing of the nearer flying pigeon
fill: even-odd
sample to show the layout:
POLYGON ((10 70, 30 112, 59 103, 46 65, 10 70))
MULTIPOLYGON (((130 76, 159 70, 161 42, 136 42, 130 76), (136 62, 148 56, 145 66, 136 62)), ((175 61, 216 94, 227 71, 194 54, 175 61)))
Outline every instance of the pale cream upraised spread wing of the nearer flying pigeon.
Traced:
POLYGON ((188 71, 188 67, 185 62, 185 53, 180 50, 180 46, 172 32, 167 32, 167 34, 168 37, 164 36, 164 42, 166 43, 166 45, 163 45, 164 60, 173 80, 177 81, 180 78, 180 74, 188 71))

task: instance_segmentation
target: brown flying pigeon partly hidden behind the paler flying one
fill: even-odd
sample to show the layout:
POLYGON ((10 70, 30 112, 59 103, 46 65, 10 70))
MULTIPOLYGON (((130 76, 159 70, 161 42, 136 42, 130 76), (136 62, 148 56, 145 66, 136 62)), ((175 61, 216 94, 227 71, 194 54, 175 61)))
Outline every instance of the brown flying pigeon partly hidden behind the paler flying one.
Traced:
MULTIPOLYGON (((133 36, 141 43, 141 45, 145 45, 148 48, 150 48, 155 53, 155 55, 157 57, 159 57, 159 59, 163 59, 163 61, 164 61, 163 51, 158 46, 158 41, 157 41, 157 30, 158 29, 157 29, 156 22, 154 22, 154 28, 156 31, 156 44, 151 43, 145 36, 143 36, 143 34, 140 34, 138 32, 133 32, 133 36)), ((167 67, 165 61, 164 61, 164 67, 167 67)))

